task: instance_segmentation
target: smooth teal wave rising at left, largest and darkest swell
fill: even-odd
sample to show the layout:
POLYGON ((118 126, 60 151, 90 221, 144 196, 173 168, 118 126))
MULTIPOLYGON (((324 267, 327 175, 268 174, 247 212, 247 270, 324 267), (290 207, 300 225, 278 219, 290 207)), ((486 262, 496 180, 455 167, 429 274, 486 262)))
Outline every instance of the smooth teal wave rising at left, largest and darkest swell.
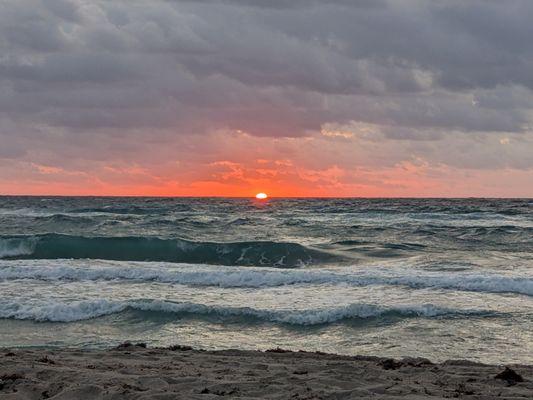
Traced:
POLYGON ((340 259, 325 251, 287 242, 216 243, 157 237, 84 237, 53 233, 0 237, 0 258, 90 258, 289 268, 340 259))

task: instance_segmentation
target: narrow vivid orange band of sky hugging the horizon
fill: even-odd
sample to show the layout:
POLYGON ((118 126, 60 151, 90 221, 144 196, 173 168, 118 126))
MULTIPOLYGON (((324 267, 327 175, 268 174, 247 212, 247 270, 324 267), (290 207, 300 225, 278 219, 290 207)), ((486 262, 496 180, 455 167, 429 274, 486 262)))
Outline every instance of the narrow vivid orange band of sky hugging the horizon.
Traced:
MULTIPOLYGON (((262 139, 262 141, 269 139, 262 139)), ((324 144, 320 147, 323 148, 324 144)), ((238 158, 236 156, 235 158, 238 158)), ((242 157, 241 157, 242 158, 242 157)), ((108 196, 251 197, 528 197, 528 171, 464 170, 432 166, 422 160, 388 167, 312 166, 297 159, 243 159, 188 163, 133 163, 134 166, 82 163, 70 170, 33 162, 7 166, 11 179, 0 180, 2 194, 108 196), (170 165, 169 165, 170 164, 170 165), (85 169, 84 166, 90 166, 85 169)), ((127 163, 126 163, 127 165, 127 163)))

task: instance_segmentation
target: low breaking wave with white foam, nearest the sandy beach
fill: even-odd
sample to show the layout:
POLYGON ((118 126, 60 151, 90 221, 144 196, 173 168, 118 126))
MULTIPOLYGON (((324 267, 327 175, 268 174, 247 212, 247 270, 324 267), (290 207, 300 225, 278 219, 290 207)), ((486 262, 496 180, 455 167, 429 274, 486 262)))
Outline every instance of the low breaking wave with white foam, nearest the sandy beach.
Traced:
POLYGON ((49 301, 45 304, 20 304, 0 301, 0 318, 34 320, 39 322, 74 322, 116 314, 127 309, 159 313, 188 314, 215 317, 245 317, 266 322, 290 325, 330 324, 348 319, 375 318, 383 315, 404 317, 439 317, 488 315, 483 310, 458 310, 432 304, 398 305, 383 307, 374 304, 349 304, 335 308, 306 310, 263 310, 250 307, 174 303, 160 300, 83 300, 72 302, 49 301))

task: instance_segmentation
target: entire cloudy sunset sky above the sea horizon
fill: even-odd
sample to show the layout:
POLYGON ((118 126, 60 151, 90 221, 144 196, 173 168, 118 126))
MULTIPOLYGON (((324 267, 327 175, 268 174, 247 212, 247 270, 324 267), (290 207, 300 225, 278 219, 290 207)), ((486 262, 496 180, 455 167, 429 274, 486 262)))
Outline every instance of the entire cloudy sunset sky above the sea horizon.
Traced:
POLYGON ((531 0, 0 0, 0 194, 533 197, 531 0))

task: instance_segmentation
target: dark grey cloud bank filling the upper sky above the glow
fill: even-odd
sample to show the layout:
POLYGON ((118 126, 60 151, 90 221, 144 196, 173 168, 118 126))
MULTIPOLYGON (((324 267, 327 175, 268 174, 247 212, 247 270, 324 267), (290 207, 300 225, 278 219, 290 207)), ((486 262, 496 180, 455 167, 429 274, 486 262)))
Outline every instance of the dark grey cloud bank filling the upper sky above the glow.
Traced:
POLYGON ((490 135, 533 131, 531 15, 530 0, 3 0, 0 157, 32 143, 59 154, 59 134, 140 129, 149 143, 354 123, 383 140, 467 135, 493 149, 490 135))

